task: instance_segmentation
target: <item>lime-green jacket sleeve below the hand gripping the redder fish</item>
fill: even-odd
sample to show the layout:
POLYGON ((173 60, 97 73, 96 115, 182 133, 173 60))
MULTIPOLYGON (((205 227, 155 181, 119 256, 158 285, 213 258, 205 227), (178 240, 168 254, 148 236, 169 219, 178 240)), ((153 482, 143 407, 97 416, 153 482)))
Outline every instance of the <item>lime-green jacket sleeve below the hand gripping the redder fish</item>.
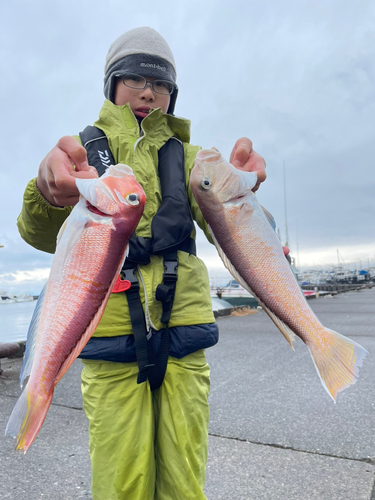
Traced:
POLYGON ((21 238, 43 252, 54 253, 56 237, 72 207, 53 207, 36 187, 36 179, 26 186, 23 204, 17 219, 21 238))

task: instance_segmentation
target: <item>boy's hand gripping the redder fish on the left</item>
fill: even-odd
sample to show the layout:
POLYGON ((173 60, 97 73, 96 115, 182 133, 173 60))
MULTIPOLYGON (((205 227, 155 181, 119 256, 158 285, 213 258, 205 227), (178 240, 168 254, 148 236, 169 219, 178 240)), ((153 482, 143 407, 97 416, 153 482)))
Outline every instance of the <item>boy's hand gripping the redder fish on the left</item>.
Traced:
POLYGON ((40 164, 36 185, 51 205, 66 207, 78 203, 76 177, 90 179, 98 173, 89 166, 85 148, 74 137, 66 136, 40 164))

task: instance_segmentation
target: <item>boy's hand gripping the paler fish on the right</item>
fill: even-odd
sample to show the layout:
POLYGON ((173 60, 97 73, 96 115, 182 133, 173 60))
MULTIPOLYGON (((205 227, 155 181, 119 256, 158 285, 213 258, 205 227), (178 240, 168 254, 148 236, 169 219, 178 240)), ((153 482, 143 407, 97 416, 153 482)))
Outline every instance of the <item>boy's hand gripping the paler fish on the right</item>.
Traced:
POLYGON ((247 137, 238 139, 234 145, 229 161, 239 170, 257 173, 258 182, 254 186, 253 191, 257 191, 260 184, 266 180, 266 162, 253 150, 253 143, 247 137))

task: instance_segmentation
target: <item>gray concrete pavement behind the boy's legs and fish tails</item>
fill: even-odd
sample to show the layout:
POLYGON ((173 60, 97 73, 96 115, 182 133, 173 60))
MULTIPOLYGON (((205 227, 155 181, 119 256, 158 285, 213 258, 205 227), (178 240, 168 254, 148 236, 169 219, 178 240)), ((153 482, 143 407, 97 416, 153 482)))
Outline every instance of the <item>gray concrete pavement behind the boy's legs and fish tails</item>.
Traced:
MULTIPOLYGON (((293 352, 263 311, 219 318, 220 342, 207 351, 209 500, 375 500, 375 288, 309 305, 369 351, 359 381, 333 403, 306 346, 297 339, 293 352)), ((20 365, 2 363, 1 433, 20 394, 20 365)), ((26 455, 0 436, 0 499, 91 498, 80 371, 76 361, 57 386, 26 455)))

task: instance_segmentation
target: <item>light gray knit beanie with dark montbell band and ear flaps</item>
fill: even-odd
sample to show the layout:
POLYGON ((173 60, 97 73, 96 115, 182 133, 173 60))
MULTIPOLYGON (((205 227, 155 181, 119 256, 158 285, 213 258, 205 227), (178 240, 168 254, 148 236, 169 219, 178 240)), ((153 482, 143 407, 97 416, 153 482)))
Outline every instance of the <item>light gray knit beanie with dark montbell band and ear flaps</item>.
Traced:
POLYGON ((172 51, 152 28, 135 28, 117 38, 109 47, 104 66, 104 95, 113 102, 115 78, 126 73, 171 82, 175 90, 167 113, 173 115, 178 87, 172 51))

